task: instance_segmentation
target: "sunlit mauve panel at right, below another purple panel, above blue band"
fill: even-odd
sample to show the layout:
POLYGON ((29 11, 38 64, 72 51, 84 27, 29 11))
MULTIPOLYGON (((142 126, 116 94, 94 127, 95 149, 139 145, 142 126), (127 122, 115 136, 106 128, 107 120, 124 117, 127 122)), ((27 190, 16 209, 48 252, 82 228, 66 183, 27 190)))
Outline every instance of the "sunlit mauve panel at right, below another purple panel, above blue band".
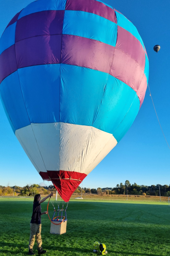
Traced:
POLYGON ((144 71, 134 59, 115 48, 110 75, 118 78, 137 92, 143 74, 144 71))

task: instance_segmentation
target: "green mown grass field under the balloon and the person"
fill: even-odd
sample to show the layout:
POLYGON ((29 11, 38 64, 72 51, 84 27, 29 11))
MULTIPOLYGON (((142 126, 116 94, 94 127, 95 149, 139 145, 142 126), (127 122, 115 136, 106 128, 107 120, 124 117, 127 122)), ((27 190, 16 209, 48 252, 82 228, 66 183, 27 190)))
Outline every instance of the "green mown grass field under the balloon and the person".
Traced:
MULTIPOLYGON (((44 202, 42 211, 46 208, 44 202)), ((1 256, 28 254, 31 215, 32 199, 0 198, 1 256)), ((71 200, 67 219, 67 233, 54 235, 48 216, 42 216, 46 255, 96 255, 95 241, 106 244, 108 255, 170 255, 167 202, 71 200)))

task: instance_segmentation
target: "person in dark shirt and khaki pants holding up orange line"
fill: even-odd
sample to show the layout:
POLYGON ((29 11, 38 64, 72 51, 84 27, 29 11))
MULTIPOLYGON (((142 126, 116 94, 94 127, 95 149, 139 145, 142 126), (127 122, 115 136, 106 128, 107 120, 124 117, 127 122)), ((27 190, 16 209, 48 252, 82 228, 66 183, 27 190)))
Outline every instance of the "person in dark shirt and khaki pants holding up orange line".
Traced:
POLYGON ((33 213, 31 217, 30 222, 30 238, 29 238, 29 255, 35 255, 33 252, 33 246, 35 242, 35 236, 37 241, 37 247, 38 247, 38 254, 44 254, 47 251, 42 249, 42 239, 41 239, 41 215, 47 214, 47 212, 41 212, 41 203, 43 203, 48 197, 53 196, 53 193, 50 195, 44 197, 41 200, 41 195, 37 194, 34 196, 34 202, 33 202, 33 213))

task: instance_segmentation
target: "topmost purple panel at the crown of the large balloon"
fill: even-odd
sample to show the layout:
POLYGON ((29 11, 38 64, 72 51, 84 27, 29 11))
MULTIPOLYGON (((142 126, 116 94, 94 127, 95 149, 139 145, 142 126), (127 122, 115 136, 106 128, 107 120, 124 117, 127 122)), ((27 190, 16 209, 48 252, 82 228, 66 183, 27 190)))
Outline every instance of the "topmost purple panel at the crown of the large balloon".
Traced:
POLYGON ((117 23, 115 11, 96 0, 67 0, 65 10, 90 12, 117 23))

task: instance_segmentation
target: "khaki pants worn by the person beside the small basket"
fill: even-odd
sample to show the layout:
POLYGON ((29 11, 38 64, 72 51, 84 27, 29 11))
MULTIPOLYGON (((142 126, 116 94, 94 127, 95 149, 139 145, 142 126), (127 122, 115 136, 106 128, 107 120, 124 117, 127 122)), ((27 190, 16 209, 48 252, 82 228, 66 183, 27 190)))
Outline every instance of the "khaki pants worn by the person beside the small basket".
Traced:
POLYGON ((42 246, 42 240, 41 240, 41 224, 36 223, 30 223, 30 237, 29 237, 29 249, 32 249, 35 242, 35 236, 37 241, 37 247, 42 246))

